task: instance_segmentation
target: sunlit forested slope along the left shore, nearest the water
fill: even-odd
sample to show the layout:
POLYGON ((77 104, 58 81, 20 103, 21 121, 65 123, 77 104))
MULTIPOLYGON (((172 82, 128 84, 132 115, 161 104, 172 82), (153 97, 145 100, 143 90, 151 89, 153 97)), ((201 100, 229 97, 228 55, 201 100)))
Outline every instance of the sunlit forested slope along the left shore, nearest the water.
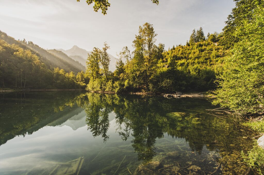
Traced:
POLYGON ((0 39, 0 86, 13 89, 81 89, 84 72, 77 75, 63 69, 50 70, 29 49, 0 39))

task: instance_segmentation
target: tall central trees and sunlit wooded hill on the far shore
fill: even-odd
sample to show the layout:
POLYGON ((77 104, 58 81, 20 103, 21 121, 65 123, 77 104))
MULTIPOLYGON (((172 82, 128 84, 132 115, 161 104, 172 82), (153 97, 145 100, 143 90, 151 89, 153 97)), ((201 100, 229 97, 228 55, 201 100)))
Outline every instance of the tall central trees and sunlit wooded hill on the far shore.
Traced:
POLYGON ((105 43, 102 49, 94 48, 87 58, 86 75, 90 81, 86 89, 157 93, 214 89, 214 80, 228 51, 211 40, 222 34, 205 37, 202 28, 197 33, 191 34, 186 45, 164 50, 164 44, 156 44, 153 25, 145 23, 139 27, 133 50, 125 46, 119 53, 113 73, 109 71, 109 46, 105 43))

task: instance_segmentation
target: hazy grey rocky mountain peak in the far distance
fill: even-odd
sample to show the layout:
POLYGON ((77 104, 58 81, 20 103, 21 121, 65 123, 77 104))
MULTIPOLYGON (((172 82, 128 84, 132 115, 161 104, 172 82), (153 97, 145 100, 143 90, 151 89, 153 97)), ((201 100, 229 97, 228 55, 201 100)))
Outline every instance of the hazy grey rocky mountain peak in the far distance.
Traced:
MULTIPOLYGON (((59 50, 59 51, 65 53, 66 55, 68 55, 73 60, 81 63, 83 66, 86 66, 87 56, 88 56, 88 54, 91 53, 85 49, 79 48, 76 45, 74 45, 71 49, 68 49, 68 50, 64 50, 64 49, 56 49, 56 50, 59 50)), ((116 68, 115 67, 116 58, 110 54, 108 54, 108 55, 110 57, 109 70, 114 71, 116 68)))

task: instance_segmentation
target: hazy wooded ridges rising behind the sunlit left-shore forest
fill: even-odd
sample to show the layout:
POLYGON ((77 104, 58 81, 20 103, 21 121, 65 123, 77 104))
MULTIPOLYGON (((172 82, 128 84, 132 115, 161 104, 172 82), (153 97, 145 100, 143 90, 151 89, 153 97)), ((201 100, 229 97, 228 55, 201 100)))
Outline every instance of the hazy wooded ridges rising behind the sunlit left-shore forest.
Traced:
POLYGON ((39 47, 31 41, 26 42, 26 40, 16 40, 8 36, 6 33, 2 32, 1 30, 0 39, 6 41, 8 44, 17 44, 23 49, 30 49, 31 52, 33 54, 36 54, 39 57, 39 60, 44 63, 50 70, 53 70, 54 68, 58 67, 60 69, 64 69, 67 72, 73 71, 76 74, 79 71, 83 70, 83 67, 80 67, 79 65, 73 65, 72 63, 74 62, 74 60, 70 60, 70 58, 68 59, 68 61, 66 61, 63 58, 59 58, 58 56, 47 52, 45 49, 39 47))

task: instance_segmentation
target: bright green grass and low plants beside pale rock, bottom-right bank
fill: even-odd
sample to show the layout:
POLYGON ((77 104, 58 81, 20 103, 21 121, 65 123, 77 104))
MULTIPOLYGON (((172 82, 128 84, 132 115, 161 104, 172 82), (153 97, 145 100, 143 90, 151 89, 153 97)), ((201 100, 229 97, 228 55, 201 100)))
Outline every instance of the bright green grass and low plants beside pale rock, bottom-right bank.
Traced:
MULTIPOLYGON (((254 131, 264 133, 264 121, 246 122, 244 125, 254 131)), ((241 154, 244 162, 246 162, 254 172, 261 175, 264 174, 264 149, 258 146, 257 141, 255 141, 252 150, 247 152, 247 154, 242 151, 241 154)))

